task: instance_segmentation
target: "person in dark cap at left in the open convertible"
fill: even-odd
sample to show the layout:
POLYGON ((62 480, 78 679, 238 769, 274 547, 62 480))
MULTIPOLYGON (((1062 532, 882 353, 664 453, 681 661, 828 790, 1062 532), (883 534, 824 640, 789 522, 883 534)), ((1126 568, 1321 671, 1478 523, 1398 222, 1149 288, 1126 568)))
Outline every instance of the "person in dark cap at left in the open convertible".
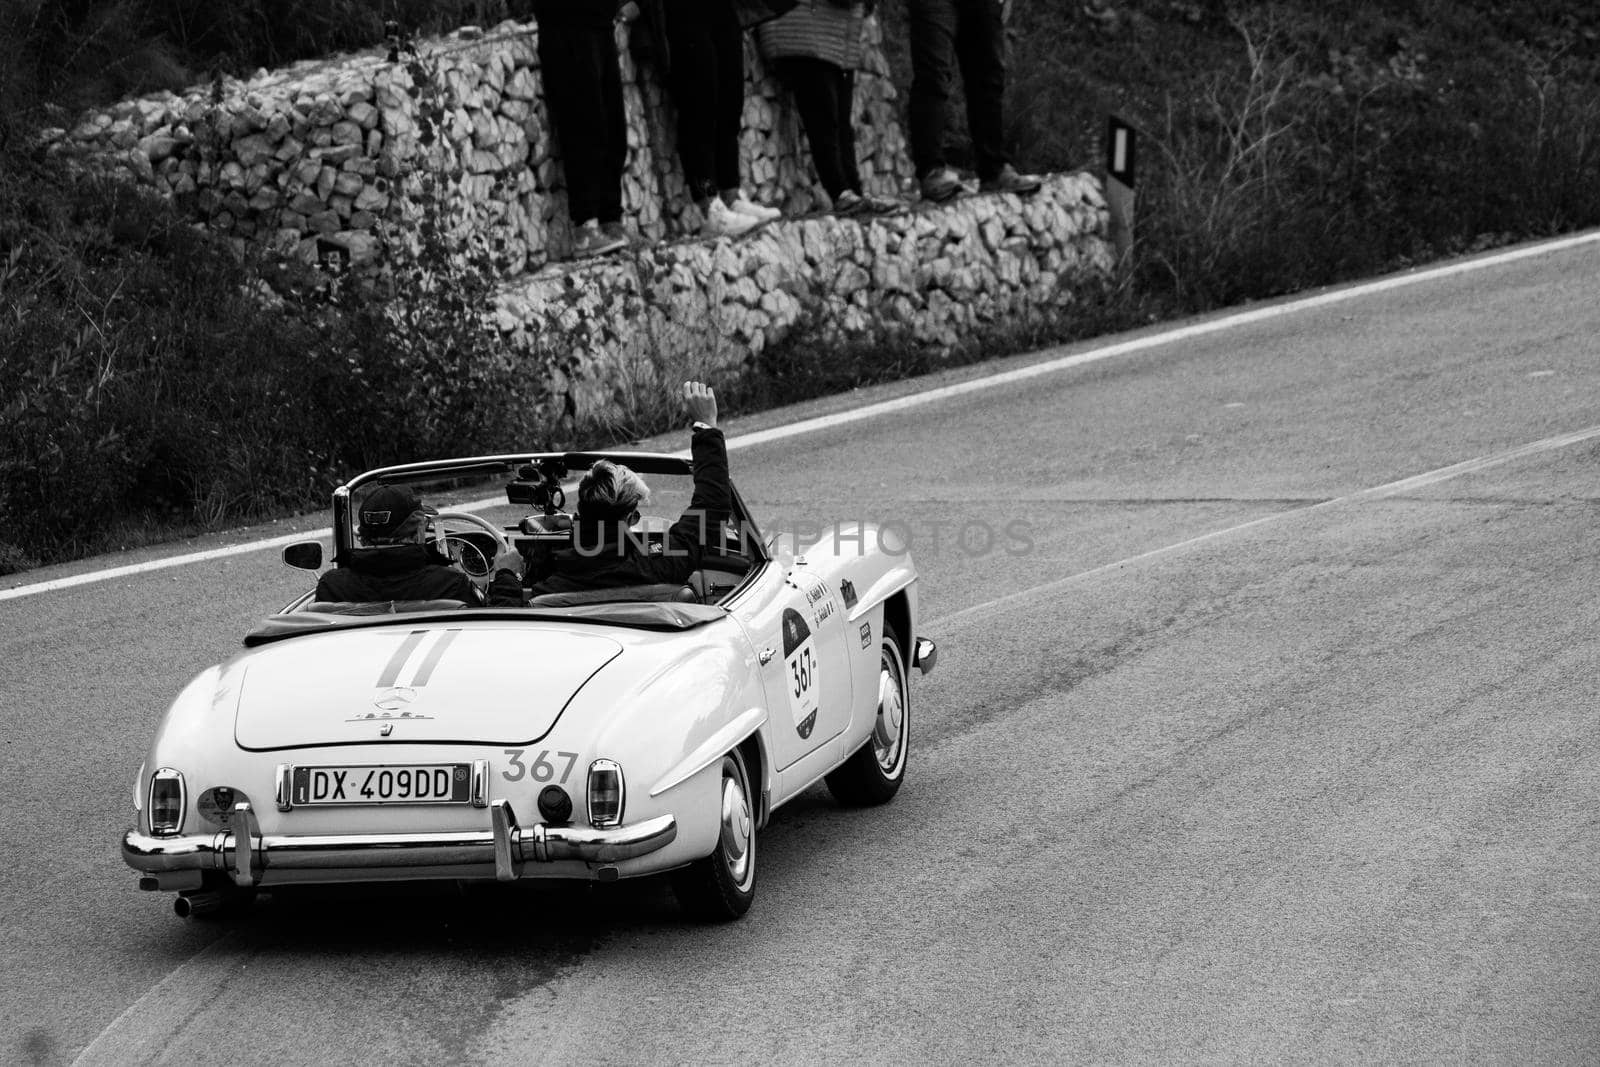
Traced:
POLYGON ((317 581, 315 600, 459 600, 480 606, 483 597, 448 555, 427 541, 438 510, 403 485, 379 485, 362 501, 360 549, 334 560, 317 581))

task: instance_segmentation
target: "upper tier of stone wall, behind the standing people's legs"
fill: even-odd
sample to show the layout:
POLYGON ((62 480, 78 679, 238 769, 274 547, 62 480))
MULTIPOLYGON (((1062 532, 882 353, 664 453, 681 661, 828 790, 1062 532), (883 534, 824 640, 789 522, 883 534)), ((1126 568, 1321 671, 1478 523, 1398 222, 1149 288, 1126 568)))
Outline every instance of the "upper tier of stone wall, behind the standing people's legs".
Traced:
MULTIPOLYGON (((646 240, 693 234, 701 216, 677 162, 672 106, 648 59, 618 26, 629 158, 624 224, 646 240)), ((538 29, 504 22, 421 43, 259 72, 184 94, 125 101, 48 136, 58 152, 109 165, 190 205, 211 229, 266 240, 306 261, 355 262, 382 245, 386 221, 424 210, 453 245, 488 253, 506 274, 562 259, 571 246, 565 174, 544 110, 538 29)), ((894 88, 867 24, 856 80, 856 147, 867 192, 899 195, 910 162, 894 88)), ((824 206, 798 118, 747 54, 746 186, 787 213, 824 206)))

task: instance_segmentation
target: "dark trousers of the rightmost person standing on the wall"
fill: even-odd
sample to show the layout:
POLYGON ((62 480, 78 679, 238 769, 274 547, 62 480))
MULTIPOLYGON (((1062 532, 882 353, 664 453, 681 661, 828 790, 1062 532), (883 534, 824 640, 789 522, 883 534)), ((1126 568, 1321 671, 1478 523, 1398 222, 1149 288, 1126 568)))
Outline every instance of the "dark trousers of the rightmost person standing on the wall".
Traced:
POLYGON ((995 0, 909 0, 910 155, 917 173, 944 166, 944 130, 960 69, 978 176, 1010 160, 1002 147, 1005 24, 995 0))

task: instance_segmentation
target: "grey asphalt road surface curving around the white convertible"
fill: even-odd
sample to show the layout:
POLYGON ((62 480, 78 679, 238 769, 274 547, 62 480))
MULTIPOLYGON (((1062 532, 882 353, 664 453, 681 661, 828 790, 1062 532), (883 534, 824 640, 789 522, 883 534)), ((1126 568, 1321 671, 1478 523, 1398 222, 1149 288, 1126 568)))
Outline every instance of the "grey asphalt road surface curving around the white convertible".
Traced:
POLYGON ((902 523, 941 641, 899 798, 779 811, 734 925, 654 883, 178 920, 117 854, 133 773, 302 577, 0 601, 0 1061, 1595 1062, 1595 277, 1586 245, 734 453, 768 526, 902 523))

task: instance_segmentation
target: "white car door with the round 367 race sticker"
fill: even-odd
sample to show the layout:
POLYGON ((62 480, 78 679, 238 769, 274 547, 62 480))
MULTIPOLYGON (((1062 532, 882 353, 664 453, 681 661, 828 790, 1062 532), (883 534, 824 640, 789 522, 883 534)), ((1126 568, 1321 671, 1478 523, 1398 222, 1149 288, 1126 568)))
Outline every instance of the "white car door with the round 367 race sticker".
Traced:
POLYGON ((763 661, 773 760, 781 771, 850 725, 845 605, 803 563, 771 560, 730 608, 763 661))

